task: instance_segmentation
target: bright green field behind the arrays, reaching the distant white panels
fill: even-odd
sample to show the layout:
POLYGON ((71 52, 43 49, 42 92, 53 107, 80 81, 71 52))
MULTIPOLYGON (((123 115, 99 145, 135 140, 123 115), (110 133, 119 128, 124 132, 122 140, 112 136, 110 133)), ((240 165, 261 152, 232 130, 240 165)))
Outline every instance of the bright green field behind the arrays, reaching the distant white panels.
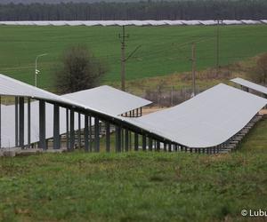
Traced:
MULTIPOLYGON (((38 83, 54 88, 54 69, 60 66, 62 52, 69 46, 85 44, 93 54, 106 60, 109 73, 102 83, 120 79, 119 27, 19 27, 0 26, 0 73, 34 83, 36 55, 41 74, 38 83)), ((216 27, 127 27, 129 55, 126 79, 169 75, 190 70, 191 43, 196 43, 197 68, 215 66, 216 27)), ((220 28, 220 64, 253 57, 267 51, 267 26, 223 26, 220 28)))

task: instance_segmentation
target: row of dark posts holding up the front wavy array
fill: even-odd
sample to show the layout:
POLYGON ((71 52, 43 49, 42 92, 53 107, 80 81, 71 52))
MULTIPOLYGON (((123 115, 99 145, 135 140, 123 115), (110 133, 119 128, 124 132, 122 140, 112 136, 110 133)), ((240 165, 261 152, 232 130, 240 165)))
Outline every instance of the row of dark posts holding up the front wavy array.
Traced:
MULTIPOLYGON (((1 102, 1 97, 0 97, 1 102)), ((33 147, 31 144, 31 99, 27 98, 28 104, 28 143, 25 145, 24 142, 24 129, 25 129, 25 99, 23 97, 15 98, 15 146, 16 147, 33 147)), ((76 131, 75 131, 75 108, 66 107, 66 147, 69 151, 74 150, 76 146, 76 131)), ((142 108, 135 114, 142 114, 142 108)), ((87 113, 78 113, 78 130, 77 130, 77 146, 82 147, 81 138, 81 115, 85 115, 85 128, 84 128, 84 146, 87 152, 100 152, 100 134, 101 134, 101 120, 98 116, 88 115, 87 113), (92 123, 94 120, 94 124, 92 123), (93 127, 93 131, 92 131, 93 127), (94 132, 94 133, 93 133, 94 132)), ((39 143, 38 147, 47 149, 48 143, 45 137, 45 101, 39 100, 39 143)), ((105 141, 106 141, 106 152, 110 152, 110 123, 102 122, 105 124, 105 141)), ((0 108, 0 126, 1 126, 1 108, 0 108)), ((1 146, 1 127, 0 127, 0 146, 1 146)), ((163 149, 168 152, 182 151, 189 153, 217 153, 219 148, 214 147, 210 149, 194 149, 172 142, 161 141, 159 139, 153 139, 150 135, 143 133, 137 133, 130 131, 122 126, 115 126, 115 151, 116 152, 127 152, 132 150, 138 151, 142 148, 143 151, 155 150, 160 151, 163 149), (132 139, 134 139, 134 146, 132 139), (140 147, 139 144, 142 143, 140 147)), ((53 149, 61 148, 61 134, 60 134, 60 105, 53 105, 53 149)))

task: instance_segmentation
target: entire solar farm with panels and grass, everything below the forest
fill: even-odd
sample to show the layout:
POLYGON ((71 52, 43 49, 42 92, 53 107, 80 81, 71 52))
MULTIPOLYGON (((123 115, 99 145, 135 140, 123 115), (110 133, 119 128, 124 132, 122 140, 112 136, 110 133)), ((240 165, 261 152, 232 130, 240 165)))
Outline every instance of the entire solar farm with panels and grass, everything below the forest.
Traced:
POLYGON ((249 77, 265 76, 255 66, 267 62, 267 20, 35 22, 0 21, 0 221, 231 222, 250 221, 244 210, 266 214, 267 87, 249 77), (107 67, 93 87, 81 83, 101 66, 66 51, 77 45, 107 67), (75 90, 60 84, 76 80, 75 90))

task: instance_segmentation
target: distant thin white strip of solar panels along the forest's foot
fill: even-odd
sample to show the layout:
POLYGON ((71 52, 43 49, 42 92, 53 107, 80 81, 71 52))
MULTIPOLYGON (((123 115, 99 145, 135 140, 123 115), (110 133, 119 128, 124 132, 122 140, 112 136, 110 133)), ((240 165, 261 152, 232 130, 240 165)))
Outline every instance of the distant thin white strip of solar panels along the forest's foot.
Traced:
MULTIPOLYGON (((222 20, 223 25, 267 24, 267 20, 222 20)), ((216 20, 22 20, 0 21, 0 25, 15 26, 211 26, 216 20)))

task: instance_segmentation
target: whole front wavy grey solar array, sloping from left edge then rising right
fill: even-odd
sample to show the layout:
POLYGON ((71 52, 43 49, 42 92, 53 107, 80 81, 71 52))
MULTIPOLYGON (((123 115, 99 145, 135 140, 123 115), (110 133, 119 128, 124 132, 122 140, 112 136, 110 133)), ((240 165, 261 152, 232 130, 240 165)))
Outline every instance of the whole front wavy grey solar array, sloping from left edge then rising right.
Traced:
MULTIPOLYGON (((247 125, 257 112, 267 104, 267 99, 221 83, 176 107, 144 115, 140 118, 129 119, 110 114, 109 103, 106 104, 106 109, 101 110, 100 107, 93 107, 90 99, 86 104, 83 98, 73 100, 75 97, 68 97, 67 99, 4 75, 0 75, 0 95, 33 97, 55 101, 62 105, 78 107, 79 110, 89 111, 95 116, 102 116, 106 120, 116 121, 117 124, 129 127, 130 129, 134 127, 134 129, 138 129, 139 132, 142 131, 144 134, 154 134, 161 139, 166 139, 185 147, 198 148, 215 147, 227 141, 247 125)), ((97 99, 101 101, 102 98, 98 97, 97 99)), ((130 102, 127 101, 125 103, 130 102)), ((38 118, 37 106, 37 102, 32 106, 33 110, 36 110, 34 111, 33 122, 38 122, 36 120, 38 118)), ((10 135, 12 135, 11 131, 14 131, 14 120, 12 117, 14 116, 14 113, 12 113, 14 108, 12 110, 6 109, 4 112, 3 115, 7 115, 7 117, 2 116, 2 120, 4 125, 11 126, 9 128, 11 130, 7 131, 2 128, 3 138, 6 141, 5 145, 12 147, 13 137, 10 135)), ((64 108, 61 108, 61 112, 64 113, 64 115, 61 115, 61 123, 64 123, 66 116, 64 108)), ((53 125, 53 105, 47 104, 46 116, 46 124, 53 125)), ((25 114, 25 121, 27 123, 27 113, 25 114)), ((64 131, 64 127, 66 126, 61 125, 61 133, 64 131)), ((37 124, 33 128, 32 133, 35 133, 33 139, 37 139, 37 124)), ((77 129, 77 122, 75 128, 77 129)), ((50 135, 52 137, 51 130, 47 129, 46 134, 48 137, 50 135)))

